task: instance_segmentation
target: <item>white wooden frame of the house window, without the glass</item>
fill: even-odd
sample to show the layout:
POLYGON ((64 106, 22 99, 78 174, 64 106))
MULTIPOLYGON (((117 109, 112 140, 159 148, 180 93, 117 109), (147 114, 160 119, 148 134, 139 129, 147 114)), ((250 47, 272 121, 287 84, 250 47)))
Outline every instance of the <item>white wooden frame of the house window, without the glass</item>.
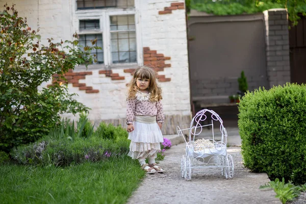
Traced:
MULTIPOLYGON (((140 12, 137 8, 140 8, 140 1, 135 0, 134 8, 105 8, 105 9, 88 9, 77 10, 77 1, 72 0, 72 28, 74 32, 79 35, 82 34, 97 34, 101 33, 103 37, 103 53, 104 64, 91 64, 88 69, 101 69, 101 68, 129 68, 136 66, 143 66, 143 49, 141 38, 141 24, 140 24, 140 12), (111 29, 110 29, 110 16, 117 15, 134 15, 135 16, 135 28, 136 28, 136 52, 137 62, 135 63, 115 63, 112 62, 112 50, 111 50, 111 29), (92 31, 80 31, 80 20, 93 20, 99 19, 100 29, 92 31)), ((73 33, 74 33, 73 32, 73 33)), ((72 35, 72 34, 71 34, 72 35)), ((85 65, 76 67, 77 69, 86 69, 85 65)))

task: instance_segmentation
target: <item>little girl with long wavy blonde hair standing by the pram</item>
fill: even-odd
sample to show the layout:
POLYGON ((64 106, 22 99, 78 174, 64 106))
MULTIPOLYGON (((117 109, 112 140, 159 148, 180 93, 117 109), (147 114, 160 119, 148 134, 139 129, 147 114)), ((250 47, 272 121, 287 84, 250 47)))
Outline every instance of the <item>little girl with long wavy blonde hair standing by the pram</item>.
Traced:
POLYGON ((136 69, 129 85, 126 107, 126 124, 129 132, 132 159, 138 159, 147 173, 163 172, 155 163, 157 152, 164 142, 161 132, 164 122, 161 88, 156 83, 155 72, 149 67, 136 69), (145 160, 148 159, 148 164, 145 160))

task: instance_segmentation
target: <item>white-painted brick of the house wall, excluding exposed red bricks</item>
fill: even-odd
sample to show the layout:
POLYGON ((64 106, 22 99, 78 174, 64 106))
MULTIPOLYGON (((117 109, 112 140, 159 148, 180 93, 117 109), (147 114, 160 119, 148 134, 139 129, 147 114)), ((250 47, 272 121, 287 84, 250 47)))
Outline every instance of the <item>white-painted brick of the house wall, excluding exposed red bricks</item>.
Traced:
MULTIPOLYGON (((8 2, 16 4, 15 8, 19 16, 28 17, 28 24, 33 29, 39 27, 42 44, 47 44, 46 38, 53 37, 55 42, 71 40, 76 28, 73 22, 78 19, 73 15, 75 1, 61 0, 0 0, 4 5, 8 2)), ((165 74, 171 78, 170 82, 159 83, 163 89, 163 104, 166 115, 190 115, 190 88, 188 73, 188 50, 186 36, 185 10, 173 10, 171 14, 159 15, 164 7, 170 7, 171 3, 184 1, 164 0, 135 0, 136 12, 139 12, 140 29, 137 30, 142 47, 157 50, 157 53, 171 57, 165 68, 159 74, 165 74), (175 101, 175 102, 174 102, 175 101)), ((101 68, 102 69, 102 68, 101 68)), ((113 73, 119 73, 125 80, 111 80, 105 74, 99 74, 94 69, 92 75, 86 75, 86 86, 98 89, 99 93, 85 93, 78 87, 68 85, 70 92, 78 93, 77 99, 91 108, 90 119, 119 119, 125 117, 126 83, 132 76, 124 73, 122 68, 114 68, 113 73)), ((45 85, 45 84, 44 84, 45 85)))

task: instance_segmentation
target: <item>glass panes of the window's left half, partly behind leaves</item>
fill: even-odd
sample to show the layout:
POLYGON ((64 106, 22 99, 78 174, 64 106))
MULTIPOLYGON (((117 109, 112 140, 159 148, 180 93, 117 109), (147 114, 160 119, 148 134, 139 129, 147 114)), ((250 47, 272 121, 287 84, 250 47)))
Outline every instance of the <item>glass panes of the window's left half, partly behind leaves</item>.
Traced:
MULTIPOLYGON (((100 30, 99 20, 80 20, 80 31, 94 32, 100 30)), ((94 55, 95 61, 93 64, 103 64, 104 55, 103 55, 103 37, 102 33, 95 34, 80 34, 79 43, 82 47, 91 46, 91 40, 97 39, 95 46, 101 47, 102 49, 93 49, 91 54, 94 55)))

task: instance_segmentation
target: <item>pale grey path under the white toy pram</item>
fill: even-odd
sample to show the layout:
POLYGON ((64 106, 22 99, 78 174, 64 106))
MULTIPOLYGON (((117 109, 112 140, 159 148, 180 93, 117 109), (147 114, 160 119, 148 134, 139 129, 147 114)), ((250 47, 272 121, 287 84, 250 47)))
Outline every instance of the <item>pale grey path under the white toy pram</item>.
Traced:
MULTIPOLYGON (((192 181, 181 175, 185 143, 166 150, 160 165, 165 173, 147 174, 127 203, 281 203, 273 190, 259 190, 269 182, 265 173, 251 173, 242 165, 241 148, 228 147, 234 159, 234 178, 226 180, 220 172, 192 174, 192 181)), ((295 203, 299 204, 299 203, 295 203)))

